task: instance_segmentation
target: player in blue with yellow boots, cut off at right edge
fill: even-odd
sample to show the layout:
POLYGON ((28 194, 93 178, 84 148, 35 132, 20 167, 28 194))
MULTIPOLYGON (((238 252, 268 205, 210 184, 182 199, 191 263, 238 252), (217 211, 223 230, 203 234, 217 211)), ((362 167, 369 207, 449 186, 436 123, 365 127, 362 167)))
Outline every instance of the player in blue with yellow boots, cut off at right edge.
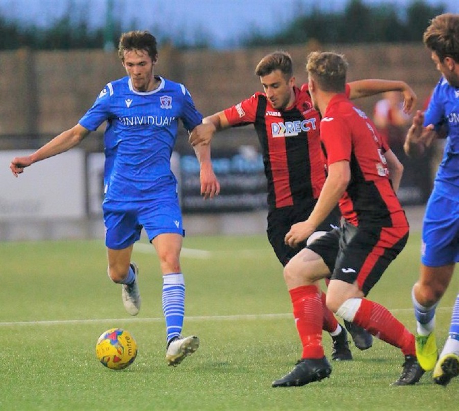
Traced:
POLYGON ((427 202, 422 229, 421 272, 412 297, 417 321, 416 353, 421 367, 446 386, 459 375, 459 295, 443 350, 438 355, 435 310, 459 262, 459 14, 433 18, 423 41, 442 77, 429 105, 418 111, 406 135, 409 155, 422 154, 447 131, 443 159, 427 202))

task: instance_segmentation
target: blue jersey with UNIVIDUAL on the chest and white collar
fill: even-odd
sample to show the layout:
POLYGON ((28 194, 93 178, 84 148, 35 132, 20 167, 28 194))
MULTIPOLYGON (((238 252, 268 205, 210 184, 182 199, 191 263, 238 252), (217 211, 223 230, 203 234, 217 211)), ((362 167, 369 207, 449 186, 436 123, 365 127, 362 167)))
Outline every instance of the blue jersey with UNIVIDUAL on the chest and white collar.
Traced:
POLYGON ((104 135, 106 199, 138 201, 156 198, 162 181, 174 178, 170 157, 179 119, 191 131, 202 121, 190 93, 162 77, 157 89, 138 92, 126 76, 108 83, 79 123, 104 135))

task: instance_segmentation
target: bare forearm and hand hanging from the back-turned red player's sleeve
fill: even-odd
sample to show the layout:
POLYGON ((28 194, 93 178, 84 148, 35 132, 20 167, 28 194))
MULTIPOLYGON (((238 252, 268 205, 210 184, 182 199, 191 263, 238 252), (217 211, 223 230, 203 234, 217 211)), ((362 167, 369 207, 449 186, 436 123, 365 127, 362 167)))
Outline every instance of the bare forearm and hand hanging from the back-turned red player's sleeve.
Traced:
POLYGON ((294 224, 285 235, 285 243, 291 247, 307 239, 317 226, 338 204, 350 181, 349 161, 337 161, 328 166, 328 176, 320 192, 319 199, 308 220, 294 224))

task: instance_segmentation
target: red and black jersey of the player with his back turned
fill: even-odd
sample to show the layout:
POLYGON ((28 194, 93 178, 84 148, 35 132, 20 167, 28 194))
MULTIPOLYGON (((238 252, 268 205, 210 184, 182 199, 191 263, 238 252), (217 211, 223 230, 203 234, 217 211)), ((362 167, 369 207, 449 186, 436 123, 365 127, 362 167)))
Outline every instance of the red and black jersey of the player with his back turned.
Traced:
POLYGON ((344 94, 334 96, 320 123, 327 166, 347 160, 351 178, 340 200, 342 216, 354 226, 407 226, 389 179, 387 142, 367 115, 344 94))

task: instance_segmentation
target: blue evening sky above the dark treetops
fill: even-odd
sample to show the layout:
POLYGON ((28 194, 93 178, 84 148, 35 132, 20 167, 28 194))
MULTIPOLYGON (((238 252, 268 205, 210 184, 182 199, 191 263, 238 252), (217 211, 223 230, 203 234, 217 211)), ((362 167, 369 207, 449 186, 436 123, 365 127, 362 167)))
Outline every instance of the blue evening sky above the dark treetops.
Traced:
MULTIPOLYGON (((90 27, 105 24, 107 5, 113 2, 116 20, 123 29, 150 30, 171 37, 212 38, 212 45, 233 47, 253 31, 278 31, 299 13, 317 7, 325 11, 342 10, 348 0, 0 0, 0 12, 7 19, 52 24, 72 10, 77 21, 82 18, 90 27)), ((412 0, 364 0, 366 4, 394 4, 404 8, 412 0)), ((457 0, 426 0, 431 5, 444 4, 446 11, 459 13, 457 0)))

